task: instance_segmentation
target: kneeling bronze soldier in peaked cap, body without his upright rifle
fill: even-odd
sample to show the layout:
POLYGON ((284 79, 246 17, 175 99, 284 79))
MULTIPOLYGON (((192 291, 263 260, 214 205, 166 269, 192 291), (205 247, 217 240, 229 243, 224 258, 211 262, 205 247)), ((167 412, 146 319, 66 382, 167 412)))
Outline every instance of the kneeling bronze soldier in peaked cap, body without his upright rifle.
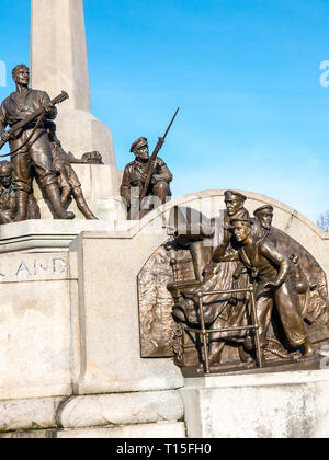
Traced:
MULTIPOLYGON (((137 208, 138 214, 139 197, 147 179, 149 166, 149 149, 147 139, 145 137, 139 137, 132 145, 131 152, 134 153, 136 158, 126 165, 120 188, 120 194, 127 204, 128 219, 135 218, 134 209, 137 208)), ((171 181, 172 174, 167 164, 161 158, 157 157, 151 181, 146 193, 146 196, 155 197, 156 203, 152 203, 154 206, 149 206, 148 209, 141 209, 139 218, 149 212, 152 207, 157 207, 166 203, 168 197, 171 196, 169 186, 171 181)))

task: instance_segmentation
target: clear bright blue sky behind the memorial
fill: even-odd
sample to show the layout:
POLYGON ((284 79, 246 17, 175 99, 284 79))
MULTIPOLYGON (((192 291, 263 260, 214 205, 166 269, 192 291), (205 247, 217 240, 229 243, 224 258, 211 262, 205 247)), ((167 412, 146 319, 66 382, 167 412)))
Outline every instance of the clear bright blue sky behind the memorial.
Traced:
MULTIPOLYGON (((120 168, 180 106, 160 154, 175 196, 240 188, 314 221, 329 209, 328 0, 84 0, 84 13, 92 112, 120 168)), ((0 60, 29 62, 30 0, 1 0, 0 28, 0 60)))

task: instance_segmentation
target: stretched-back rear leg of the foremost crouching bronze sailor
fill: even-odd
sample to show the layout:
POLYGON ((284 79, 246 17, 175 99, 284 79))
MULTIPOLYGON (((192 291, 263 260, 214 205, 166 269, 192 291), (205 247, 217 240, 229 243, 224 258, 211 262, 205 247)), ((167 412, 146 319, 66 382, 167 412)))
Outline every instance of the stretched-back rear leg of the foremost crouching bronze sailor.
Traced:
POLYGON ((292 347, 304 345, 305 355, 311 356, 313 348, 308 340, 306 325, 300 317, 298 307, 294 302, 292 288, 288 283, 283 283, 274 292, 275 306, 285 336, 292 347))

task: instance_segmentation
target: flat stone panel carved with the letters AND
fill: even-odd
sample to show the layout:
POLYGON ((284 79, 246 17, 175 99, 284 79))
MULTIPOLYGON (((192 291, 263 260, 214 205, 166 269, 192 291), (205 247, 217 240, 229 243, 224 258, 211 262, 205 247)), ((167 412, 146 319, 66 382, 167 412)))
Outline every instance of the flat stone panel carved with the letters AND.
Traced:
POLYGON ((70 395, 70 255, 5 254, 0 266, 0 400, 70 395))

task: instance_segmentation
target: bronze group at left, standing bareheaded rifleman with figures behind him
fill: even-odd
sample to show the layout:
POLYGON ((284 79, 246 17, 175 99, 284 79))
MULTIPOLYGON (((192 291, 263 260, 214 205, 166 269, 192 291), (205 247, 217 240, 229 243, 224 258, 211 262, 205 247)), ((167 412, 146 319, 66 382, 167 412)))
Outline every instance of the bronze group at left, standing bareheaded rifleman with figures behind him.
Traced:
POLYGON ((101 164, 99 152, 88 152, 81 159, 70 158, 56 137, 56 105, 68 99, 61 92, 50 101, 44 91, 29 88, 30 70, 25 65, 12 71, 16 91, 7 97, 0 108, 0 149, 10 142, 10 185, 1 180, 0 223, 39 219, 39 208, 35 202, 32 181, 35 176, 45 198, 50 203, 55 219, 73 219, 67 211, 72 196, 87 219, 97 219, 83 197, 81 184, 71 163, 101 164), (5 127, 10 129, 5 131, 5 127))

